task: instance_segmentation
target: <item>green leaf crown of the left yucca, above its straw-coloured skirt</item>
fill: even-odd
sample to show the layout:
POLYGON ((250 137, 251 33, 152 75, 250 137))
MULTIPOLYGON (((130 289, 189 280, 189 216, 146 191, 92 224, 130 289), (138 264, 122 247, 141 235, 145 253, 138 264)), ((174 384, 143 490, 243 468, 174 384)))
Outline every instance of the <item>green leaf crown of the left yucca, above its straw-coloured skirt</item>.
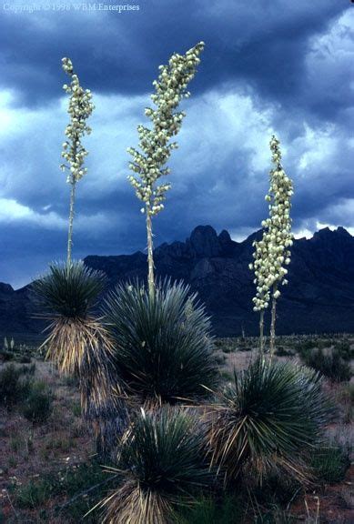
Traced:
POLYGON ((106 287, 105 274, 86 267, 82 261, 49 267, 46 276, 32 283, 39 306, 51 317, 86 317, 106 287))

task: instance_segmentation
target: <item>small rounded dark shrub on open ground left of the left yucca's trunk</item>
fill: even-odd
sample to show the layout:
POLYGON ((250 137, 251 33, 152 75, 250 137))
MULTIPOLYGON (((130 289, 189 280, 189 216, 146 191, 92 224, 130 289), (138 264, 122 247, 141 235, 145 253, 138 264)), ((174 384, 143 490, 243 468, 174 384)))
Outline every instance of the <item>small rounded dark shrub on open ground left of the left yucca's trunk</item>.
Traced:
POLYGON ((54 395, 46 382, 35 382, 22 408, 25 418, 34 424, 43 424, 51 416, 53 411, 54 395))

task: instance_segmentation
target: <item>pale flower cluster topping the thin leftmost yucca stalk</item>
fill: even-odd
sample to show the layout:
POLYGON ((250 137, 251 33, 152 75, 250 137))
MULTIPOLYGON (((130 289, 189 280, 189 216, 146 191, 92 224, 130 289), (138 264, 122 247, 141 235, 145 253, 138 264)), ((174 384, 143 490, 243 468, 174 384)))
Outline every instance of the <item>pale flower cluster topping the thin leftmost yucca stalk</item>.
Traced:
POLYGON ((63 143, 62 151, 62 157, 68 164, 61 164, 60 168, 63 171, 66 169, 69 171, 66 182, 74 184, 87 171, 87 168, 83 166, 88 151, 81 144, 81 138, 91 133, 91 127, 86 125, 86 119, 92 114, 95 106, 92 104, 91 91, 80 86, 71 60, 63 58, 62 65, 66 74, 71 78, 70 84, 65 84, 63 89, 71 96, 67 110, 70 123, 66 126, 67 140, 63 143))

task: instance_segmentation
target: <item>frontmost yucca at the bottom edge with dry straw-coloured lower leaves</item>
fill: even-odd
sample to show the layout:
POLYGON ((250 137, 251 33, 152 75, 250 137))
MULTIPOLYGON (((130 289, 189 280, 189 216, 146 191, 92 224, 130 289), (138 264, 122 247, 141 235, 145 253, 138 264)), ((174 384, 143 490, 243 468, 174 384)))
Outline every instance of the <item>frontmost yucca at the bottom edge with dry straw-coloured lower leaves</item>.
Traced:
POLYGON ((204 431, 179 408, 141 410, 121 441, 120 484, 103 500, 106 524, 167 524, 193 492, 213 482, 204 431))

